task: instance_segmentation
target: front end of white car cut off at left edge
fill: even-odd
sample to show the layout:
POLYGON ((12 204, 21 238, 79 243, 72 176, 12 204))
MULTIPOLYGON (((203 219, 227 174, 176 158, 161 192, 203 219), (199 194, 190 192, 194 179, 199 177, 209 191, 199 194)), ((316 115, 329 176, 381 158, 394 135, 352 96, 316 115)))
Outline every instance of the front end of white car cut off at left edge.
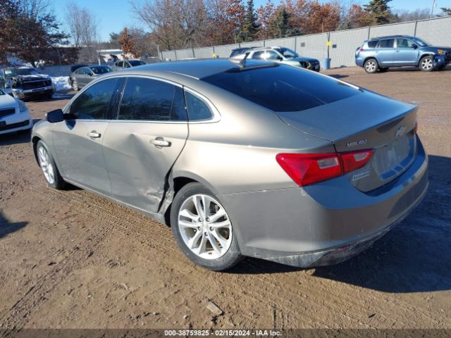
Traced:
POLYGON ((0 90, 0 134, 28 131, 33 120, 23 101, 0 90))

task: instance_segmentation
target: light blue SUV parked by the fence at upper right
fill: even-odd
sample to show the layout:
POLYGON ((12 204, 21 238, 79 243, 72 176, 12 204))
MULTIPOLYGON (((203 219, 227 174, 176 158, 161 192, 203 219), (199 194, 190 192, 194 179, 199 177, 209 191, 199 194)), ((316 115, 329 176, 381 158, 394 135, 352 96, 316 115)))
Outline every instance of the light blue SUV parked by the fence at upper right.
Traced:
POLYGON ((393 35, 366 40, 355 51, 355 63, 366 73, 385 72, 391 67, 415 66, 431 72, 451 62, 450 47, 435 47, 419 37, 393 35))

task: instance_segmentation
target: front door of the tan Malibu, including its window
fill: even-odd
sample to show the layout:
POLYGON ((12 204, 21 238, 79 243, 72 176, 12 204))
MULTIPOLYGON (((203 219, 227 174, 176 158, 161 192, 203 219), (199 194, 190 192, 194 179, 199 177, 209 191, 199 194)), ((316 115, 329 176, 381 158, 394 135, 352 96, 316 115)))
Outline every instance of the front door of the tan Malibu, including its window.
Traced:
POLYGON ((101 144, 119 81, 106 79, 89 86, 65 109, 65 120, 53 125, 54 149, 63 177, 103 194, 111 193, 111 184, 101 144))

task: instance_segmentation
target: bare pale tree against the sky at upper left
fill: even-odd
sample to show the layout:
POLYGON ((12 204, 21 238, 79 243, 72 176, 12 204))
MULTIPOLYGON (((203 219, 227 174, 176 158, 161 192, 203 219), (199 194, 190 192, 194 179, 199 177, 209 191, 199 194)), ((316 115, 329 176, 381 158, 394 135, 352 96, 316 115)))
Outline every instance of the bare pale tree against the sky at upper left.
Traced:
POLYGON ((89 9, 70 1, 66 8, 66 24, 76 47, 80 48, 79 61, 97 60, 99 46, 99 20, 89 9))

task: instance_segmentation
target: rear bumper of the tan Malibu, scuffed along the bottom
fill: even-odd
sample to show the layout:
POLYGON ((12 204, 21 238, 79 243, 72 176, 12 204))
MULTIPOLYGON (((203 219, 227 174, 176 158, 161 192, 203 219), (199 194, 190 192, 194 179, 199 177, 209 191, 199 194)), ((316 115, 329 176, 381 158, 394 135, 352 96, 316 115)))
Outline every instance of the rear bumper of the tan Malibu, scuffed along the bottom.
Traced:
POLYGON ((428 161, 416 160, 380 194, 342 176, 304 188, 220 195, 245 256, 299 267, 340 263, 399 223, 426 194, 428 161))

